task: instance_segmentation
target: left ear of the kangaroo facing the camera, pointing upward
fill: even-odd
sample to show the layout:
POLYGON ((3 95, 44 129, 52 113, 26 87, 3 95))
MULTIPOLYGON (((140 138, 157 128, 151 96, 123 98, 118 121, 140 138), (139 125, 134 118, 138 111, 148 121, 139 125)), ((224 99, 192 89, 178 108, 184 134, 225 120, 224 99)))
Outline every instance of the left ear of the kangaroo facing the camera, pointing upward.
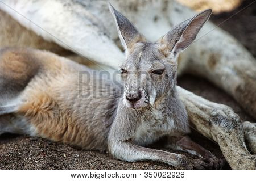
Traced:
POLYGON ((123 47, 125 48, 126 56, 133 51, 135 43, 145 41, 144 37, 137 31, 137 29, 123 16, 119 11, 109 3, 109 10, 115 19, 117 31, 123 47))

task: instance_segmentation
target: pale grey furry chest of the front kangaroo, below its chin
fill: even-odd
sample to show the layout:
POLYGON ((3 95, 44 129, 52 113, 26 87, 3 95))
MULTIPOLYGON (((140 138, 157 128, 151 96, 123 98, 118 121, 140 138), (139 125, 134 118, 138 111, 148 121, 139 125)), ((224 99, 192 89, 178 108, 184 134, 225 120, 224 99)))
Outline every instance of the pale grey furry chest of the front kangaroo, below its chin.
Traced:
POLYGON ((160 111, 148 111, 141 116, 137 131, 134 136, 134 144, 148 145, 166 135, 177 135, 176 120, 172 115, 160 111))

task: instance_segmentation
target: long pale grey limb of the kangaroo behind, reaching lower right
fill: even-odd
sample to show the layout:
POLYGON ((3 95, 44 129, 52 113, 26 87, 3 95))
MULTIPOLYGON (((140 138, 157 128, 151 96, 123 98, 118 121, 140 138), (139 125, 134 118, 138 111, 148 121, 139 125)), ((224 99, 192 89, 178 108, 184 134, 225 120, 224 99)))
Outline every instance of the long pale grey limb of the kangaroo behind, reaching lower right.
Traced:
POLYGON ((246 148, 242 123, 236 113, 228 106, 210 102, 179 86, 177 90, 187 108, 193 127, 204 136, 218 142, 230 167, 255 169, 256 157, 246 148))

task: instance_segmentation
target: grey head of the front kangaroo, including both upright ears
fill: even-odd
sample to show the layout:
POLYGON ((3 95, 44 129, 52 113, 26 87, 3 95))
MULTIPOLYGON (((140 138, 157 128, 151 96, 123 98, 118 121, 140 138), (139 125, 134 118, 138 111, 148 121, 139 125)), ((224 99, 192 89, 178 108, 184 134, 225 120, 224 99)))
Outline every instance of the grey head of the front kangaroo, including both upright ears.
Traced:
POLYGON ((151 43, 112 5, 109 4, 109 8, 126 54, 126 60, 121 65, 124 103, 135 109, 154 105, 156 100, 174 89, 177 56, 195 40, 212 10, 205 10, 185 20, 151 43))

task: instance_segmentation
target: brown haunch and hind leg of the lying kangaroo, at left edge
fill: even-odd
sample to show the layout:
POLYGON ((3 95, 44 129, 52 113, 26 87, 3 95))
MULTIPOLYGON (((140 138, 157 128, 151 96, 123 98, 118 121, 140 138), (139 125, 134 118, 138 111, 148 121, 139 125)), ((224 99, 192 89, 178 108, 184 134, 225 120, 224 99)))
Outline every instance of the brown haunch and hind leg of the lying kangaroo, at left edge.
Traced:
POLYGON ((0 49, 0 134, 32 134, 31 126, 18 115, 20 96, 37 74, 40 64, 30 49, 0 49))

